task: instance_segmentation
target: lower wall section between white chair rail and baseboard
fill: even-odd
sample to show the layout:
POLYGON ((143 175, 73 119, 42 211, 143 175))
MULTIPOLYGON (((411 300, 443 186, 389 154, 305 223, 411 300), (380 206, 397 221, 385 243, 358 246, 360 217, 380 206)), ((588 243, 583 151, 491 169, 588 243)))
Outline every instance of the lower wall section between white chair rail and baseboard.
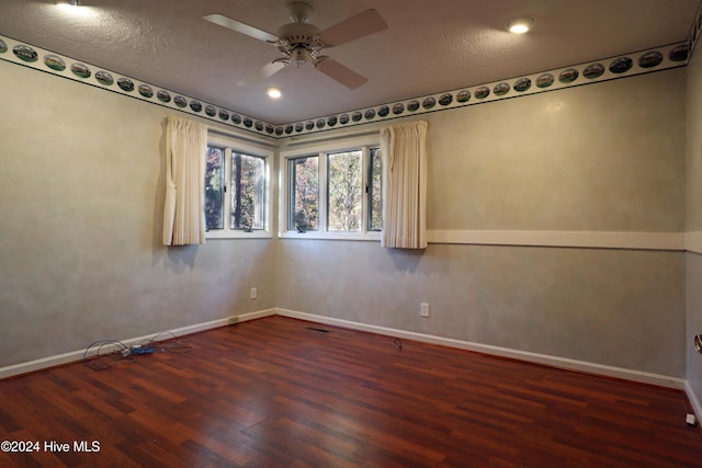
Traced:
POLYGON ((682 252, 282 240, 280 307, 684 376, 682 252), (297 274, 290 274, 297 272, 297 274), (420 303, 431 305, 421 318, 420 303))

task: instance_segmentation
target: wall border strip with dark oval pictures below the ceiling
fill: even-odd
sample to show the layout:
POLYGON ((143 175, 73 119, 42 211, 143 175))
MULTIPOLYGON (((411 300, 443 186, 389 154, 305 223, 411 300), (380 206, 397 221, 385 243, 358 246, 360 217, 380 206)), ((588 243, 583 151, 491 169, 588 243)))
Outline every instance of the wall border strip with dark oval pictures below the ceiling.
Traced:
POLYGON ((0 59, 247 132, 272 138, 286 138, 682 67, 688 64, 690 50, 701 31, 702 9, 698 12, 690 36, 684 43, 283 125, 273 125, 236 111, 203 103, 197 99, 20 43, 10 37, 0 36, 0 59))

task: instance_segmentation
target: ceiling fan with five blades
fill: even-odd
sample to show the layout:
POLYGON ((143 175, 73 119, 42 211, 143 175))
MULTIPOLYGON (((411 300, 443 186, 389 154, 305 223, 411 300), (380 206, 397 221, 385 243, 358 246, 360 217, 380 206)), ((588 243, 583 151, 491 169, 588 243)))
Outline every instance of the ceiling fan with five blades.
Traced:
POLYGON ((386 30, 387 23, 375 10, 365 10, 320 31, 314 24, 307 22, 313 11, 312 5, 306 2, 294 1, 288 3, 287 7, 291 12, 292 23, 281 26, 278 30, 278 35, 223 14, 215 13, 203 16, 204 20, 211 23, 272 44, 283 54, 283 57, 276 58, 268 62, 263 68, 246 75, 237 84, 245 85, 265 80, 293 64, 297 67, 312 64, 317 70, 350 89, 356 89, 367 81, 367 78, 341 65, 331 57, 321 55, 321 52, 386 30))

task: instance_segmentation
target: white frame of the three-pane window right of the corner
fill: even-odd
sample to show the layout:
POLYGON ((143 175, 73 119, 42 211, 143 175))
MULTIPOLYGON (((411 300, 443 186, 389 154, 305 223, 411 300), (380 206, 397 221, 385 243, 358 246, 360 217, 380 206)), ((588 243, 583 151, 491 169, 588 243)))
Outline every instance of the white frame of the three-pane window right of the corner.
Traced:
POLYGON ((370 230, 370 205, 369 191, 370 183, 370 155, 372 148, 380 148, 380 137, 377 134, 367 135, 355 138, 344 138, 335 141, 312 142, 308 145, 301 144, 295 148, 288 148, 280 151, 280 187, 279 191, 279 237, 283 239, 329 239, 329 240, 381 240, 380 230, 370 230), (329 185, 328 185, 328 155, 343 151, 361 150, 361 170, 362 170, 362 213, 361 229, 358 231, 330 231, 328 229, 328 204, 329 204, 329 185), (319 206, 318 206, 318 229, 298 232, 297 229, 288 227, 290 220, 290 171, 288 161, 296 158, 318 157, 318 178, 319 178, 319 206))

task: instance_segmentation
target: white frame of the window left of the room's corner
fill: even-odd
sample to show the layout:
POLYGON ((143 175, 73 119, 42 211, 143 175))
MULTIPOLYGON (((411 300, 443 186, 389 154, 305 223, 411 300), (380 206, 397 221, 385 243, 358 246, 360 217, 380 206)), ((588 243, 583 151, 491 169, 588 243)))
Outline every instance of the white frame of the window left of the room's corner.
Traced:
POLYGON ((274 151, 260 146, 251 145, 238 139, 236 136, 208 134, 207 146, 224 149, 224 193, 223 217, 224 229, 211 229, 205 231, 205 239, 270 239, 273 237, 273 182, 271 178, 274 151), (231 228, 231 153, 238 152, 246 156, 262 158, 264 161, 263 187, 263 229, 231 228))

